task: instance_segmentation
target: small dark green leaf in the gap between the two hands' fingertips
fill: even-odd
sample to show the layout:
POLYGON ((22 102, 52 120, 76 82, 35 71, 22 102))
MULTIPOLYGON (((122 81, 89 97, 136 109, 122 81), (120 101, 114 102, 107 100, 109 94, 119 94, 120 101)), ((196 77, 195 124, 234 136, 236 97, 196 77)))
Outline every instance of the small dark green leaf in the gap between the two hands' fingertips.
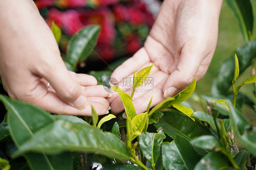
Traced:
POLYGON ((111 86, 110 76, 112 74, 112 71, 109 71, 109 70, 90 71, 88 74, 94 76, 97 79, 98 85, 105 85, 107 87, 111 86))

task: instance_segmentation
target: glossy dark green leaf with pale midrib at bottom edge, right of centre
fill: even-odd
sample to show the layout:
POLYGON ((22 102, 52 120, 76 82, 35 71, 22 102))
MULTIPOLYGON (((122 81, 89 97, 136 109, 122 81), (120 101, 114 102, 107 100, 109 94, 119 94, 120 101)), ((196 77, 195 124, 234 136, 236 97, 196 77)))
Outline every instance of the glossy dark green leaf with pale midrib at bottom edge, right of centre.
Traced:
POLYGON ((166 170, 193 170, 201 158, 189 141, 179 135, 171 143, 163 143, 162 153, 166 170))

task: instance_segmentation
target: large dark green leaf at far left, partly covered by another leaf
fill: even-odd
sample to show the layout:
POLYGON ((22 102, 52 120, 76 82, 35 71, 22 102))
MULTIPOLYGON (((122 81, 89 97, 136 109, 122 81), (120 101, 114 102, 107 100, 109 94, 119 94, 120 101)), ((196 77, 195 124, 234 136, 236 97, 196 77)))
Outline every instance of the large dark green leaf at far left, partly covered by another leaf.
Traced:
MULTIPOLYGON (((40 108, 21 101, 12 100, 7 96, 0 95, 0 100, 8 110, 7 121, 10 135, 19 148, 26 140, 34 136, 41 128, 51 125, 54 119, 49 113, 40 108)), ((27 153, 24 155, 32 170, 71 170, 72 154, 63 153, 58 156, 27 153)))

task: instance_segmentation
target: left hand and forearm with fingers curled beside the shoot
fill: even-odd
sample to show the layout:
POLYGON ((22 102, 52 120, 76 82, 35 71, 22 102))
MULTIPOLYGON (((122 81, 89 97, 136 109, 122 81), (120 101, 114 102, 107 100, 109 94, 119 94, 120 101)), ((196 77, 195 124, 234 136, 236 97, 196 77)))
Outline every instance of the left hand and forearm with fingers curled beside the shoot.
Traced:
POLYGON ((91 115, 91 105, 107 113, 109 93, 94 77, 67 70, 32 0, 1 1, 0 21, 0 75, 11 98, 57 114, 91 115))

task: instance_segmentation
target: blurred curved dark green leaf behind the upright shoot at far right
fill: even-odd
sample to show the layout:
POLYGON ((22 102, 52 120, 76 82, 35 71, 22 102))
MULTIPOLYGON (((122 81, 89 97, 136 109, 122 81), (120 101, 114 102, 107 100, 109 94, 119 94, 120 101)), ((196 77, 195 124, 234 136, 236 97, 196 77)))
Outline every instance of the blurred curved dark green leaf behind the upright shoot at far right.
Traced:
MULTIPOLYGON (((233 0, 229 0, 233 1, 233 0)), ((242 0, 243 1, 243 0, 242 0)), ((248 0, 249 1, 249 0, 248 0)), ((247 1, 246 1, 247 3, 247 1)), ((256 40, 246 42, 245 45, 238 47, 235 51, 239 60, 239 72, 240 75, 251 65, 251 61, 256 57, 256 40)), ((232 79, 235 70, 235 59, 234 55, 231 55, 225 62, 220 66, 219 74, 215 78, 212 85, 213 94, 227 94, 228 89, 232 84, 232 79)))

